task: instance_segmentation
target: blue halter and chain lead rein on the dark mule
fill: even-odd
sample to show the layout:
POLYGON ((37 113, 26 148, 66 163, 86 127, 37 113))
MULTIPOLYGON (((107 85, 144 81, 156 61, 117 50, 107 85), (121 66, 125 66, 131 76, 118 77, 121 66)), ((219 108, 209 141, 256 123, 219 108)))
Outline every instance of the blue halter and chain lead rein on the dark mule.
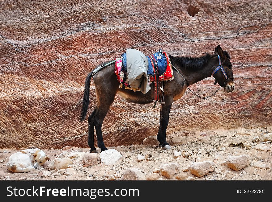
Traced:
MULTIPOLYGON (((195 92, 193 92, 191 89, 189 89, 189 87, 188 87, 189 85, 188 85, 187 81, 185 80, 185 78, 182 76, 181 72, 179 72, 179 71, 177 70, 177 68, 175 68, 175 66, 174 66, 171 62, 170 62, 170 64, 171 64, 171 66, 179 73, 179 75, 181 75, 181 77, 184 79, 185 84, 187 85, 187 89, 188 89, 191 93, 193 93, 196 97, 198 97, 198 98, 200 98, 200 99, 205 99, 205 100, 207 100, 208 98, 214 96, 215 93, 217 93, 217 92, 218 92, 218 91, 226 84, 226 82, 227 82, 228 80, 234 81, 234 78, 228 78, 228 77, 227 77, 227 74, 226 74, 226 72, 224 71, 224 69, 223 69, 223 67, 222 67, 220 56, 218 56, 218 60, 219 60, 219 65, 215 68, 215 70, 212 72, 211 75, 213 76, 213 75, 216 74, 216 73, 218 72, 218 70, 220 69, 220 70, 222 71, 224 77, 226 78, 226 80, 225 80, 225 82, 223 83, 222 86, 220 85, 220 88, 219 88, 219 89, 217 89, 217 90, 216 90, 214 93, 212 93, 210 96, 205 96, 205 97, 199 96, 198 94, 196 94, 195 92)), ((217 82, 217 81, 215 80, 214 85, 216 84, 216 82, 217 82)))

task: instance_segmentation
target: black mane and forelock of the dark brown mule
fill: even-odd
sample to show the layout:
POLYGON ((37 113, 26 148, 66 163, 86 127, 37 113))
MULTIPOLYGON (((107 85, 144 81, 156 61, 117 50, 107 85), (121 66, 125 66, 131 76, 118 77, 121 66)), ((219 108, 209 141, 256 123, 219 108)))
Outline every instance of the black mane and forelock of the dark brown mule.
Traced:
MULTIPOLYGON (((228 59, 231 59, 229 53, 227 51, 224 51, 228 59)), ((214 53, 211 55, 210 53, 205 53, 204 56, 200 57, 191 57, 191 56, 185 56, 185 57, 175 57, 169 55, 169 58, 172 63, 178 63, 182 68, 185 69, 201 69, 203 65, 205 65, 211 57, 216 56, 218 54, 214 53)))

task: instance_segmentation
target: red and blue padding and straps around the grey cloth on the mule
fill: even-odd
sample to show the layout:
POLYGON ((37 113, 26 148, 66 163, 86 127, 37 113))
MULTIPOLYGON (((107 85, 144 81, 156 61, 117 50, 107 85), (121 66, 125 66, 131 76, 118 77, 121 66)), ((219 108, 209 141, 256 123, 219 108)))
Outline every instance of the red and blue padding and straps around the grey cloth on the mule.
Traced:
MULTIPOLYGON (((168 55, 165 52, 156 52, 153 55, 147 56, 148 59, 148 80, 149 85, 154 83, 154 100, 159 100, 159 82, 173 80, 174 75, 168 55)), ((127 80, 126 72, 126 53, 122 54, 121 58, 115 59, 115 74, 120 85, 119 88, 133 90, 127 80)), ((137 89, 140 91, 140 89, 137 89)), ((155 106, 155 105, 154 105, 155 106)))

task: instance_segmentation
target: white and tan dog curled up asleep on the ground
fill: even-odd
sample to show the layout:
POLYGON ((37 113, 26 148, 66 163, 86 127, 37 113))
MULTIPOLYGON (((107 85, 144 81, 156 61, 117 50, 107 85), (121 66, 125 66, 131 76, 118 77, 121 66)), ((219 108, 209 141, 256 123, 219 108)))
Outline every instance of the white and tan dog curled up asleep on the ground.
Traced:
POLYGON ((12 154, 6 167, 14 173, 37 171, 42 168, 46 160, 49 161, 49 157, 45 155, 45 152, 32 147, 12 154))

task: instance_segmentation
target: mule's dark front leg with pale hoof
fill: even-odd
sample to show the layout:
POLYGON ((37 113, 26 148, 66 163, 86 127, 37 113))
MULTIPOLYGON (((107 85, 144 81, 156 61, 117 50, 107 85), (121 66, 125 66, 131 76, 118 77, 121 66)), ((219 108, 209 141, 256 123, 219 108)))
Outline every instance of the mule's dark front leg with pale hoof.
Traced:
POLYGON ((159 132, 157 139, 159 140, 159 146, 161 146, 162 149, 171 149, 171 146, 166 142, 166 129, 173 97, 164 97, 164 102, 164 105, 160 105, 159 132))

